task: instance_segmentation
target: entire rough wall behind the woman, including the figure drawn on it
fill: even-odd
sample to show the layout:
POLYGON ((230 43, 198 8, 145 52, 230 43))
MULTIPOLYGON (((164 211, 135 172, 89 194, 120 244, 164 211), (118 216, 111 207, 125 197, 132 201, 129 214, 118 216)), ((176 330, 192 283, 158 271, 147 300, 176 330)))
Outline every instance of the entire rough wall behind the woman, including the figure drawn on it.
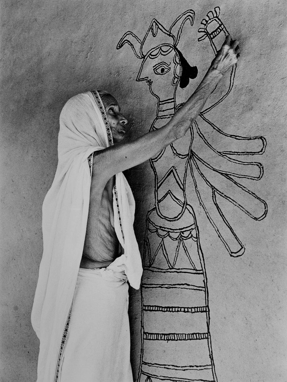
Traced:
POLYGON ((106 89, 136 138, 192 94, 227 31, 240 41, 237 68, 185 139, 126 173, 146 267, 130 291, 132 366, 141 381, 286 380, 284 3, 1 7, 1 380, 36 380, 30 312, 64 103, 106 89), (151 87, 136 81, 146 77, 151 87))

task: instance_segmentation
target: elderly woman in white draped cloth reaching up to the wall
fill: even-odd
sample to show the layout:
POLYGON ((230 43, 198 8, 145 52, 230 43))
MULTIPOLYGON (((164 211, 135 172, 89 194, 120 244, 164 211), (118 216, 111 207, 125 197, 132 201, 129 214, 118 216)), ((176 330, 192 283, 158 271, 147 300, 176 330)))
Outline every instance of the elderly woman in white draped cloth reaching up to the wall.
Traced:
POLYGON ((38 381, 133 380, 127 281, 139 288, 142 266, 135 203, 122 172, 182 138, 238 57, 238 42, 227 36, 180 110, 133 142, 123 142, 128 121, 112 95, 78 94, 63 107, 32 309, 40 339, 38 381))

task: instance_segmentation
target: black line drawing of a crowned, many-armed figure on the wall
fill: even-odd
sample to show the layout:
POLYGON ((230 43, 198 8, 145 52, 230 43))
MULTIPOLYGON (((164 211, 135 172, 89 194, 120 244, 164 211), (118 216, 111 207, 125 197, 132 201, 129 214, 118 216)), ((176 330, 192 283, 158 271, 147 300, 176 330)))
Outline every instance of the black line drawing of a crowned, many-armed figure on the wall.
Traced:
MULTIPOLYGON (((216 7, 201 21, 198 49, 207 42, 215 54, 220 49, 229 32, 219 16, 216 7)), ((142 40, 128 31, 118 42, 117 49, 130 45, 139 59, 136 81, 146 81, 157 101, 150 131, 165 125, 180 108, 178 87, 189 86, 190 94, 195 90, 198 68, 177 48, 187 21, 192 27, 193 10, 178 16, 170 28, 153 19, 142 40)), ((236 69, 234 65, 225 91, 200 113, 186 136, 150 160, 154 207, 146 214, 139 382, 217 381, 200 244, 210 226, 198 223, 193 206, 200 204, 234 257, 245 248, 225 217, 222 198, 251 219, 262 220, 267 214, 266 202, 240 183, 241 178, 263 176, 263 166, 250 161, 250 155, 263 154, 266 140, 227 134, 212 122, 212 112, 232 90, 236 69)))

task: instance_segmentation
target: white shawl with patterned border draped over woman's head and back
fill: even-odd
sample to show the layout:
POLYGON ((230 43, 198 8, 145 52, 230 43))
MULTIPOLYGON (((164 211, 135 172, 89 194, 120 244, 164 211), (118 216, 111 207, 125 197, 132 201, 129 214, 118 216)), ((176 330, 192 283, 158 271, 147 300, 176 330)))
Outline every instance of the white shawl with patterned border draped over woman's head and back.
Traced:
MULTIPOLYGON (((88 157, 112 145, 109 122, 97 92, 78 94, 66 102, 60 114, 57 171, 42 209, 44 251, 31 315, 40 339, 41 382, 57 380, 59 351, 63 351, 61 342, 86 235, 91 186, 88 157)), ((112 267, 125 270, 130 285, 138 289, 142 265, 133 231, 135 201, 123 173, 116 174, 113 204, 115 231, 124 254, 112 267)))

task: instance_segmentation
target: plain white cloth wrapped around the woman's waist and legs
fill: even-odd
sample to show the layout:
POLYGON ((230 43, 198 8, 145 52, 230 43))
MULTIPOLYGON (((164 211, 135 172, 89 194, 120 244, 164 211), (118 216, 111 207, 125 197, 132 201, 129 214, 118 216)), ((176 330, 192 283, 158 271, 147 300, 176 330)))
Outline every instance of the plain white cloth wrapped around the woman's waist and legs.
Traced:
POLYGON ((133 382, 125 280, 109 268, 79 269, 60 382, 133 382))

